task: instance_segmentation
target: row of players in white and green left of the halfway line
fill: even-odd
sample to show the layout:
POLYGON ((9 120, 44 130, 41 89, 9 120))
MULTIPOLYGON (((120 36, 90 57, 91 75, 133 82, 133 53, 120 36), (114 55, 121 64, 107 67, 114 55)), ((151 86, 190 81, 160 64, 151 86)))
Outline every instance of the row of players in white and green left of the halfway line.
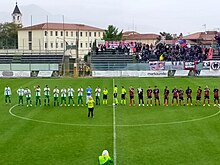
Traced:
MULTIPOLYGON (((41 105, 41 88, 40 86, 36 86, 35 88, 35 96, 36 96, 36 105, 41 105)), ((48 85, 45 86, 44 90, 44 105, 49 105, 50 104, 50 88, 48 87, 48 85)), ((62 88, 61 90, 59 90, 57 87, 55 87, 53 89, 53 97, 54 97, 54 106, 55 105, 65 105, 68 101, 68 106, 70 106, 70 104, 72 104, 73 106, 75 106, 75 102, 74 102, 74 89, 69 87, 68 89, 62 88), (59 102, 59 95, 61 98, 61 102, 59 102), (68 98, 67 98, 68 96, 68 98)), ((83 106, 83 88, 80 87, 77 90, 78 92, 78 106, 82 105, 83 106)), ((4 95, 5 95, 5 103, 11 103, 11 88, 9 86, 5 87, 4 90, 4 95)), ((32 106, 32 99, 31 99, 31 90, 26 87, 25 89, 23 89, 22 87, 20 87, 17 90, 17 94, 18 94, 18 103, 23 105, 23 97, 26 97, 26 102, 27 102, 27 106, 32 106)), ((107 95, 108 95, 108 90, 106 88, 103 89, 103 104, 107 104, 107 95)), ((92 89, 90 86, 88 86, 86 88, 86 104, 88 103, 89 97, 92 96, 92 89)), ((100 105, 100 96, 101 96, 101 89, 99 87, 96 88, 96 104, 100 105)))

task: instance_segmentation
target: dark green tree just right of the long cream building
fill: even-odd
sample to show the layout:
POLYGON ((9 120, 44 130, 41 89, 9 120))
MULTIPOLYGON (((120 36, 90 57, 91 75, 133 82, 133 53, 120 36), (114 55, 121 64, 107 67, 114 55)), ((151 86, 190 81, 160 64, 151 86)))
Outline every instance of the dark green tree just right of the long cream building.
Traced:
POLYGON ((121 41, 122 40, 122 31, 118 31, 118 28, 116 28, 113 25, 109 25, 108 29, 105 30, 105 33, 103 35, 103 40, 105 41, 121 41))

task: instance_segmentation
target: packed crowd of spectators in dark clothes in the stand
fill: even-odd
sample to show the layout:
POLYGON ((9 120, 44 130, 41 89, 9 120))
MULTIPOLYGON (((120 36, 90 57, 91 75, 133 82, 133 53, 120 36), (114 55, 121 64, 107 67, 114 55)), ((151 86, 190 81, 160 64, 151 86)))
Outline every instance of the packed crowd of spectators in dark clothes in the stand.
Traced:
POLYGON ((112 44, 99 44, 96 54, 107 53, 135 55, 137 62, 155 61, 203 61, 206 60, 209 48, 199 45, 168 45, 159 43, 148 45, 137 42, 116 42, 112 44))

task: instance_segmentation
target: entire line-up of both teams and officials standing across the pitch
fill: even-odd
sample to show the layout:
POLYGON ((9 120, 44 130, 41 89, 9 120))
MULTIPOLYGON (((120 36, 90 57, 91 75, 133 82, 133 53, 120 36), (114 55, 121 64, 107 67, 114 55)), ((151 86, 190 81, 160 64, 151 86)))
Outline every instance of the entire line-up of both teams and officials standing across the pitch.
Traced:
MULTIPOLYGON (((82 98, 83 98, 83 88, 80 87, 78 88, 78 102, 82 102, 82 98)), ((214 92, 214 105, 219 104, 219 95, 218 95, 218 89, 215 88, 213 90, 214 92)), ((35 92, 36 92, 36 100, 38 100, 41 96, 41 89, 40 86, 35 87, 35 92)), ((71 100, 73 100, 73 96, 74 96, 74 89, 73 88, 68 88, 67 90, 65 88, 61 89, 61 100, 63 102, 65 102, 66 100, 66 93, 68 93, 68 97, 69 97, 69 102, 71 100)), ((18 96, 19 97, 23 97, 24 95, 26 96, 26 98, 31 98, 31 90, 29 88, 25 88, 23 89, 22 87, 19 88, 17 90, 18 96)), ((117 99, 117 93, 118 93, 118 87, 117 85, 115 85, 114 87, 114 102, 116 104, 118 104, 118 99, 117 99)), ((130 105, 134 104, 134 87, 130 87, 129 88, 129 94, 130 94, 130 105)), ((144 105, 144 91, 141 87, 139 87, 137 89, 137 93, 138 93, 138 99, 139 99, 139 105, 142 104, 144 105)), ((154 100, 155 100, 155 105, 157 105, 157 103, 160 105, 160 99, 159 99, 159 89, 157 86, 155 86, 154 89, 151 89, 151 87, 149 87, 147 89, 147 105, 152 105, 152 98, 154 95, 154 100)), ((180 88, 179 90, 175 87, 172 90, 173 93, 173 99, 172 99, 172 104, 174 103, 174 100, 176 100, 176 103, 178 104, 178 100, 180 102, 180 104, 185 104, 184 103, 184 99, 183 99, 183 95, 184 95, 184 91, 182 88, 180 88), (178 99, 179 98, 179 99, 178 99)), ((168 87, 165 87, 164 89, 164 105, 168 105, 168 98, 169 98, 169 94, 170 91, 168 89, 168 87)), ((208 105, 210 105, 210 100, 209 100, 209 94, 210 94, 210 89, 206 86, 204 89, 204 104, 205 104, 205 100, 208 100, 208 105)), ((10 102, 10 95, 11 95, 11 88, 9 86, 5 87, 5 92, 4 92, 5 98, 6 98, 6 103, 7 103, 7 98, 9 98, 9 102, 10 102)), ((53 95, 55 100, 58 100, 57 98, 59 97, 59 89, 57 87, 54 88, 53 90, 53 95)), ((92 89, 90 86, 88 86, 86 88, 86 103, 88 101, 88 98, 92 95, 92 89)), ((97 87, 95 89, 95 96, 96 96, 96 104, 100 104, 100 95, 101 95, 101 89, 100 87, 97 87)), ((103 90, 103 100, 104 100, 104 104, 107 104, 107 95, 108 95, 108 90, 106 88, 104 88, 103 90)), ((197 89, 197 96, 196 96, 196 104, 198 103, 198 101, 201 101, 201 95, 202 95, 202 89, 199 86, 197 89)), ((48 87, 48 85, 45 86, 44 88, 44 96, 45 98, 49 98, 50 96, 50 88, 48 87)), ((187 96, 187 104, 192 104, 192 89, 190 87, 188 87, 186 89, 186 96, 187 96)), ((122 90, 121 90, 121 104, 126 104, 126 89, 122 86, 122 90)))

